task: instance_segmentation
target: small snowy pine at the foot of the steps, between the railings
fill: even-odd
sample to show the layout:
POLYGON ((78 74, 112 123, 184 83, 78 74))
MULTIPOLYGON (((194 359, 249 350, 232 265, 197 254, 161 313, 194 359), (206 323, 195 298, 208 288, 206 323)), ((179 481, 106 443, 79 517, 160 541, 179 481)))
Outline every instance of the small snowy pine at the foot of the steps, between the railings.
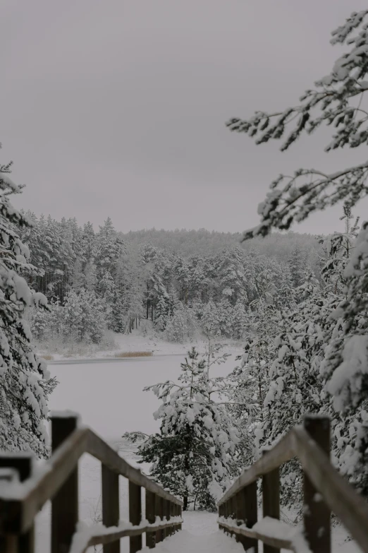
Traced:
POLYGON ((184 509, 215 510, 239 439, 223 405, 209 398, 206 361, 194 347, 181 369, 178 384, 145 388, 162 401, 154 413, 161 428, 140 447, 140 462, 152 463, 151 475, 183 497, 184 509))

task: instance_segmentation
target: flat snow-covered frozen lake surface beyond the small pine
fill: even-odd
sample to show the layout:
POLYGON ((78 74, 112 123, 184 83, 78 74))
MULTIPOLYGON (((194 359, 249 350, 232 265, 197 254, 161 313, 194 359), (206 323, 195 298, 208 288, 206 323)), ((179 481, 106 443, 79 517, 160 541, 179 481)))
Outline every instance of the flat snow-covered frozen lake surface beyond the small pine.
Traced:
MULTIPOLYGON (((159 430, 159 422, 152 416, 159 401, 153 392, 142 390, 160 381, 176 381, 184 358, 158 355, 114 362, 49 364, 51 375, 59 381, 49 408, 80 413, 82 423, 106 439, 118 439, 132 430, 152 434, 159 430)), ((236 364, 235 355, 231 355, 211 374, 225 375, 236 364)))

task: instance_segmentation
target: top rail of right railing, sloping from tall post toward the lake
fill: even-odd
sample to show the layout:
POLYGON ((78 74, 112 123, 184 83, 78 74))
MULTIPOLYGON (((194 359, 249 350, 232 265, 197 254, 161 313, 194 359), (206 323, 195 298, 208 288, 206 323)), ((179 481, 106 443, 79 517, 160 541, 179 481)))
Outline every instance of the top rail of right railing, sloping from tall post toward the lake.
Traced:
POLYGON ((250 468, 247 468, 240 477, 233 483, 228 491, 221 497, 217 505, 221 505, 224 501, 230 499, 237 494, 240 489, 252 484, 259 477, 277 469, 283 463, 295 456, 293 433, 288 432, 270 451, 267 451, 264 456, 259 458, 250 468))

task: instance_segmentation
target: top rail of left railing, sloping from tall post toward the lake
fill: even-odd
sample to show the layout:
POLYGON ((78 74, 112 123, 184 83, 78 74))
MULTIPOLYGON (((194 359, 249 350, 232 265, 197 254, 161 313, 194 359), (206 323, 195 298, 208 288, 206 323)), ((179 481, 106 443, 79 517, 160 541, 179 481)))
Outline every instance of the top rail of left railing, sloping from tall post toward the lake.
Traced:
POLYGON ((148 489, 149 492, 153 492, 164 499, 173 501, 173 503, 178 505, 183 504, 183 501, 180 501, 177 497, 166 492, 163 487, 159 486, 159 484, 147 476, 142 475, 140 470, 127 463, 125 459, 119 456, 113 448, 106 444, 102 438, 97 436, 97 434, 94 434, 94 432, 90 429, 88 429, 87 452, 93 457, 99 459, 102 463, 104 463, 104 465, 109 467, 114 472, 128 478, 128 480, 133 482, 133 484, 144 487, 145 489, 148 489))

